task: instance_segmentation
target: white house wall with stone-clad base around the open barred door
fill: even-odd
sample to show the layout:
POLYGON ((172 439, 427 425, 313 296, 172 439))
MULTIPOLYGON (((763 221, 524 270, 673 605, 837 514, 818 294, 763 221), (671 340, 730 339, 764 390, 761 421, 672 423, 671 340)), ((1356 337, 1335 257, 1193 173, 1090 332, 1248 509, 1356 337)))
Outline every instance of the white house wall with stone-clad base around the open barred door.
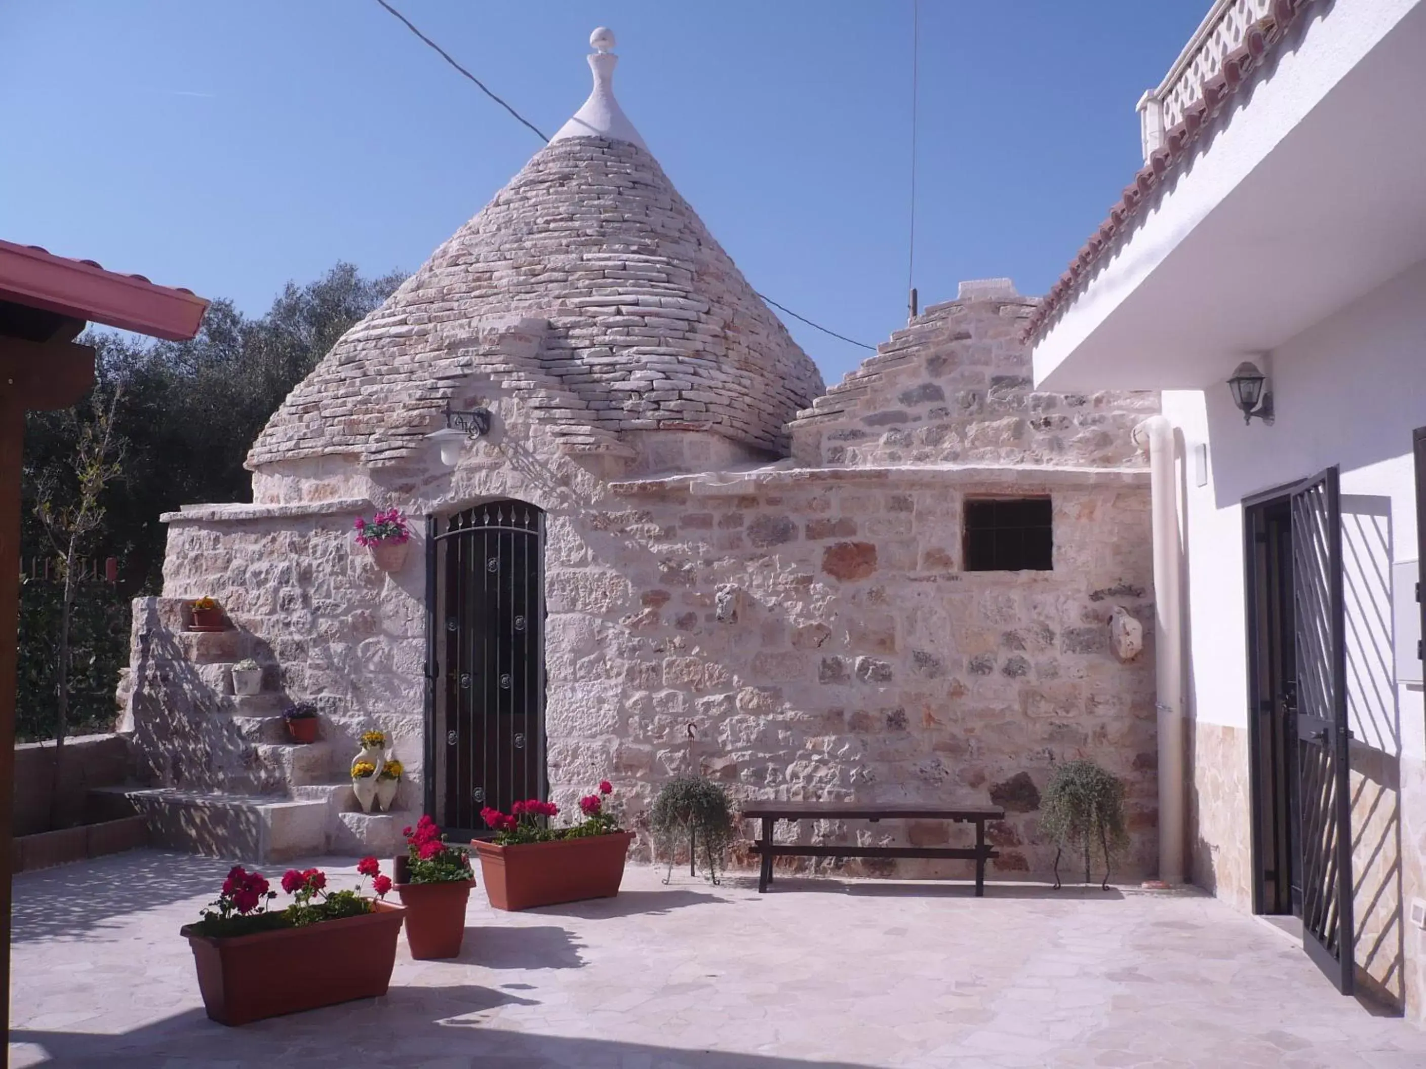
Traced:
MULTIPOLYGON (((1271 353, 1273 426, 1245 426, 1226 385, 1164 395, 1182 435, 1186 687, 1199 738, 1246 738, 1242 499, 1340 466, 1356 961, 1362 985, 1413 1018, 1423 1012, 1426 946, 1405 914, 1426 895, 1426 706, 1419 686, 1395 678, 1390 572, 1417 557, 1410 450, 1412 430, 1426 425, 1423 351, 1426 262, 1271 353), (1195 446, 1205 442, 1209 480, 1199 487, 1195 446)), ((1246 747, 1199 754, 1224 767, 1195 771, 1195 879, 1242 889, 1251 859, 1233 828, 1249 820, 1246 747), (1236 790, 1224 791, 1225 781, 1236 790)))

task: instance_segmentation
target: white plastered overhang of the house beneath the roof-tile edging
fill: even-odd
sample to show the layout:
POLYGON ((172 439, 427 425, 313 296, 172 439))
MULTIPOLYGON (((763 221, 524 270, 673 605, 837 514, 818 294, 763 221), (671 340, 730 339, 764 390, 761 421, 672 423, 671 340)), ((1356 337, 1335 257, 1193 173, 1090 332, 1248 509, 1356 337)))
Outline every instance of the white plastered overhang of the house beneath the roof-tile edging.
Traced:
POLYGON ((1423 40, 1420 0, 1310 7, 1035 345, 1035 382, 1198 388, 1416 261, 1423 40))

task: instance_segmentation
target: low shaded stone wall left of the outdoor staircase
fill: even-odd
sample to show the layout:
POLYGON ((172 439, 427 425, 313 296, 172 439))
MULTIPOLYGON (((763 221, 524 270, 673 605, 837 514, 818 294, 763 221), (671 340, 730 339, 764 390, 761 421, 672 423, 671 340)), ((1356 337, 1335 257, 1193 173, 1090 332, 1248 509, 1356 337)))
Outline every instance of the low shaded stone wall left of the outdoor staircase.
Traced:
POLYGON ((68 828, 87 818, 86 795, 96 787, 123 784, 133 773, 128 740, 123 735, 78 735, 64 741, 60 763, 60 804, 50 822, 54 797, 54 743, 23 743, 14 748, 14 835, 68 828))

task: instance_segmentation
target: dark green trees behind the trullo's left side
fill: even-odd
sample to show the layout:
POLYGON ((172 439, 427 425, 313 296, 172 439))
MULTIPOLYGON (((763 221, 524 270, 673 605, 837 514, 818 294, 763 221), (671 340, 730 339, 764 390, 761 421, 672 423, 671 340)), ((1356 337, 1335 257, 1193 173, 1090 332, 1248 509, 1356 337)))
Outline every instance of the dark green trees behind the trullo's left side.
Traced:
MULTIPOLYGON (((91 549, 84 556, 117 557, 120 582, 104 594, 86 586, 74 604, 77 617, 103 617, 73 624, 76 728, 107 727, 113 720, 117 671, 128 661, 128 626, 108 626, 108 604, 161 590, 167 529, 160 513, 251 500, 242 462, 258 432, 332 344, 401 281, 398 274, 362 278, 351 264, 338 264, 315 282, 288 282, 261 318, 214 301, 190 342, 150 344, 91 331, 81 341, 96 349, 93 395, 73 409, 27 413, 20 553, 53 559, 41 512, 47 502, 54 517, 80 499, 94 470, 76 463, 77 445, 93 439, 113 412, 118 466, 100 480, 101 523, 86 536, 91 549)), ((54 599, 40 587, 27 587, 21 600, 20 727, 29 738, 53 738, 58 617, 50 609, 54 599)))

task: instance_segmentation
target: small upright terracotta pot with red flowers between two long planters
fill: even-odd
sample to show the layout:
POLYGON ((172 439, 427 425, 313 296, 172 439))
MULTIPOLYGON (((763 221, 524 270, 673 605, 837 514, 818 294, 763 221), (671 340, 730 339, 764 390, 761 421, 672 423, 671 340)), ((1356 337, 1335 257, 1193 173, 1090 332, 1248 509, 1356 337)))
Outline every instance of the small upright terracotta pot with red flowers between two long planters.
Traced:
POLYGON ((406 946, 421 961, 455 958, 465 938, 465 905, 475 887, 471 857, 449 847, 429 817, 402 828, 406 855, 396 858, 396 894, 406 908, 406 946))

